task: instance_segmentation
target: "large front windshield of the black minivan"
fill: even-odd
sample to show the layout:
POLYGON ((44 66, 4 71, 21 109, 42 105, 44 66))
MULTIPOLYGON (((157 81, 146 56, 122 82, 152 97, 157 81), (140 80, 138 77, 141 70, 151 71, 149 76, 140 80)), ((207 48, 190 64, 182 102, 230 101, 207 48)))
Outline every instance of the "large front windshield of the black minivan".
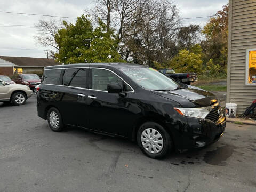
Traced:
POLYGON ((179 84, 153 68, 121 68, 138 85, 148 90, 170 91, 178 89, 179 84))

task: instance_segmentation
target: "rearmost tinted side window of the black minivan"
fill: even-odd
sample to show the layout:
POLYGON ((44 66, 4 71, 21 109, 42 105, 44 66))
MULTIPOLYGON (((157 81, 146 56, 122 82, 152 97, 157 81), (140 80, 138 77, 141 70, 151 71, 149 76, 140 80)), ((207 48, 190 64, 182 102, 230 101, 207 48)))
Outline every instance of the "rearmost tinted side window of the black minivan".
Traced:
POLYGON ((42 83, 58 85, 60 80, 61 69, 44 70, 42 83))

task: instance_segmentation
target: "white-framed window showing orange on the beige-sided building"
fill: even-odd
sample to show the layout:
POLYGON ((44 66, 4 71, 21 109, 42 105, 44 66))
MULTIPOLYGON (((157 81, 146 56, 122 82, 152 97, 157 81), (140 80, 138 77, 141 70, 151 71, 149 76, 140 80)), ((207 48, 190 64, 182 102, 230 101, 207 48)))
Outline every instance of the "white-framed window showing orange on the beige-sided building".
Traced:
POLYGON ((256 85, 256 48, 246 50, 246 85, 256 85))

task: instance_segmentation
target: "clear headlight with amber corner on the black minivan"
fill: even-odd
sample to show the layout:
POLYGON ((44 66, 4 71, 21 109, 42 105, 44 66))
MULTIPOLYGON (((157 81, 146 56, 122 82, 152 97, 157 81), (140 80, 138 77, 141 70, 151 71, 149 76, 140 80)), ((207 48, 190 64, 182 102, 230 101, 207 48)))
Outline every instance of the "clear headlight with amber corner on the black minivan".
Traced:
POLYGON ((188 116, 188 117, 195 117, 195 118, 205 118, 210 110, 201 107, 201 108, 178 108, 174 107, 174 109, 181 115, 183 116, 188 116))

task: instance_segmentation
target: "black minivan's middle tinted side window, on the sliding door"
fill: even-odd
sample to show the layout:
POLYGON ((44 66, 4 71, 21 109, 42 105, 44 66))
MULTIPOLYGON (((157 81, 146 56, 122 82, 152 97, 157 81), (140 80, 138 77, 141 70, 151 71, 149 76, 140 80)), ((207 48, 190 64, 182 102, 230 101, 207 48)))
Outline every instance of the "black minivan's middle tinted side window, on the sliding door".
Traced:
POLYGON ((86 88, 87 69, 65 69, 63 85, 86 88))

